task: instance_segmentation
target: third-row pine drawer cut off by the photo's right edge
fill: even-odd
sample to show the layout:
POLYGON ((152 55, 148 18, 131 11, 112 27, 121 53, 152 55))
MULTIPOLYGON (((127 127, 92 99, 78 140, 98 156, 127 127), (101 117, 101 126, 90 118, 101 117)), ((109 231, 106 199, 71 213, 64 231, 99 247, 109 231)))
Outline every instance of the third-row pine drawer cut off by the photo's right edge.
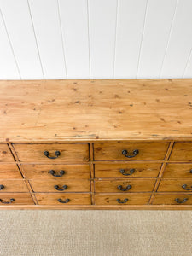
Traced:
POLYGON ((158 192, 192 192, 192 179, 163 179, 158 192))

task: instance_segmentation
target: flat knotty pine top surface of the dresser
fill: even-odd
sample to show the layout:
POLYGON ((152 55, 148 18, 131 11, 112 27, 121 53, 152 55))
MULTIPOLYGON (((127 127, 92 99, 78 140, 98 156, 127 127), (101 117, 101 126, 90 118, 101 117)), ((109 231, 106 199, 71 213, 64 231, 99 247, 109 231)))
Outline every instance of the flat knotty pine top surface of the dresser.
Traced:
POLYGON ((0 81, 0 142, 192 139, 192 79, 0 81))

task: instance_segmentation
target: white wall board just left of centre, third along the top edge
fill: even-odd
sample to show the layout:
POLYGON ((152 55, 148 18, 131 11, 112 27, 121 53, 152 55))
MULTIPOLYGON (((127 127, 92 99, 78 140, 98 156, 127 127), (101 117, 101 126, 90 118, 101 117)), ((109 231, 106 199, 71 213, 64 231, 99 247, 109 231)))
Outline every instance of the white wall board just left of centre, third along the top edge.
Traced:
POLYGON ((67 79, 90 79, 87 0, 59 0, 67 79))

